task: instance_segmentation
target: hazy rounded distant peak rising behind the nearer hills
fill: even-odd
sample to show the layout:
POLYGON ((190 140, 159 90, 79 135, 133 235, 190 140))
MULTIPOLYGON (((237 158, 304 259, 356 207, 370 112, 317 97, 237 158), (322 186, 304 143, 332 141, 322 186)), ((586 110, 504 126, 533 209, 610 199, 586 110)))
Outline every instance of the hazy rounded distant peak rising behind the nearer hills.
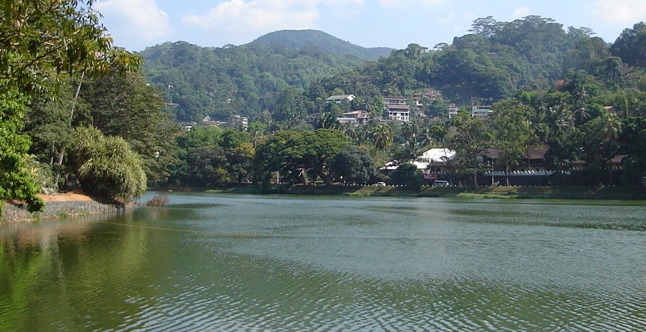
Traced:
POLYGON ((317 30, 282 30, 261 36, 248 45, 280 45, 288 48, 319 50, 323 53, 354 55, 365 60, 388 57, 392 48, 364 48, 317 30))

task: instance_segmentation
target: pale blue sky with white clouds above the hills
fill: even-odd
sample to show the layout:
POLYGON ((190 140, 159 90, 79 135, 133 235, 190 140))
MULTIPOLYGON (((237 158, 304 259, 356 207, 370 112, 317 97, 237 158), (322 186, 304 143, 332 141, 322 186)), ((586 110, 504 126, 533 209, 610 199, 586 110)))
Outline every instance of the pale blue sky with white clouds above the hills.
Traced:
POLYGON ((313 28, 357 45, 433 47, 467 33, 476 18, 554 18, 563 27, 592 28, 613 42, 646 21, 644 0, 99 0, 115 45, 143 50, 165 41, 201 46, 249 43, 265 33, 313 28))

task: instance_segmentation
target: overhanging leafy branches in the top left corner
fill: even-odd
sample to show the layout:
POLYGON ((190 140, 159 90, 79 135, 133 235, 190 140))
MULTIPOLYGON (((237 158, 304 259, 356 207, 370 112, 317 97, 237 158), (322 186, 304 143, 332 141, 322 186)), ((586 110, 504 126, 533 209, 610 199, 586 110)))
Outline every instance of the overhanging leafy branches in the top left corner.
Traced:
POLYGON ((112 39, 92 1, 4 1, 0 6, 0 79, 33 90, 52 73, 103 70, 112 39), (80 3, 80 4, 79 4, 80 3))

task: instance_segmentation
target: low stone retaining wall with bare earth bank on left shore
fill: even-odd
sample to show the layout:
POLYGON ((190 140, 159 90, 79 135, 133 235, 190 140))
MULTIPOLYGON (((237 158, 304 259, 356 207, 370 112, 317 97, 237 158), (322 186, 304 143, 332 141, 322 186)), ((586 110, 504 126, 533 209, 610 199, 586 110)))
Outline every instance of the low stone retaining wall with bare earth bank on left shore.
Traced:
POLYGON ((25 205, 4 203, 4 213, 0 217, 0 223, 60 218, 68 215, 116 213, 125 209, 125 205, 99 203, 88 196, 78 194, 41 197, 46 203, 45 210, 36 213, 28 212, 25 205))

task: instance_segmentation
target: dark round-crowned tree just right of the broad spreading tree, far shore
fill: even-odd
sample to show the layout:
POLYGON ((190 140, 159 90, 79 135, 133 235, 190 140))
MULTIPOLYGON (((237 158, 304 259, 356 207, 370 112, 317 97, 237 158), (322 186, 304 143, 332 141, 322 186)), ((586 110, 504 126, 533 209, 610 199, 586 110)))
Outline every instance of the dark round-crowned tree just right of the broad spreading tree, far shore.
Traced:
POLYGON ((346 146, 330 161, 330 172, 346 183, 369 183, 376 175, 376 167, 370 154, 354 145, 346 146))

